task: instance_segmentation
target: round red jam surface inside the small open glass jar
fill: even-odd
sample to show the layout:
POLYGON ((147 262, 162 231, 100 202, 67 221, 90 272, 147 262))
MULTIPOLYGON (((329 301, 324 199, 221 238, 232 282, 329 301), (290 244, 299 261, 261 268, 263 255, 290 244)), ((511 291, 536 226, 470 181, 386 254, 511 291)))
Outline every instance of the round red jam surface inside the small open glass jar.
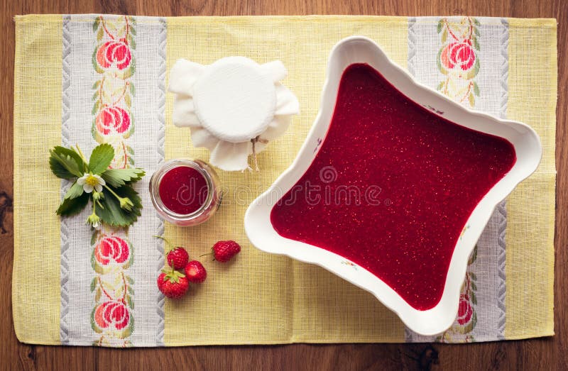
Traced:
POLYGON ((178 166, 166 172, 158 188, 164 206, 177 214, 191 214, 207 199, 207 181, 192 167, 178 166))

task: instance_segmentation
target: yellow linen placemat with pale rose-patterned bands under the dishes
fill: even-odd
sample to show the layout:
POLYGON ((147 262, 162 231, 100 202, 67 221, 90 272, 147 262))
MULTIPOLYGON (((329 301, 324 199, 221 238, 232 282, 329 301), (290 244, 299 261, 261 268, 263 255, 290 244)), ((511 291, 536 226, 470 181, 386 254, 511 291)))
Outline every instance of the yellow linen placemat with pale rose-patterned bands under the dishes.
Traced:
MULTIPOLYGON (((469 68, 464 66, 462 70, 469 68)), ((13 319, 23 342, 471 342, 553 334, 555 20, 21 16, 16 17, 14 74, 13 319), (459 94, 450 94, 452 98, 528 123, 542 140, 539 169, 491 219, 469 266, 466 279, 473 284, 464 287, 457 321, 440 336, 418 336, 371 294, 320 267, 262 253, 244 233, 246 207, 290 165, 310 129, 329 51, 355 34, 375 40, 392 60, 433 88, 447 78, 439 72, 437 53, 459 47, 455 58, 466 56, 471 65, 471 58, 479 61, 479 73, 471 79, 479 94, 473 100, 462 100, 459 94), (108 68, 97 61, 97 52, 109 45, 129 56, 121 67, 116 61, 108 68), (173 96, 165 93, 170 68, 180 57, 208 64, 228 55, 257 62, 282 60, 288 68, 284 83, 297 94, 300 115, 283 138, 258 156, 261 172, 219 171, 227 192, 222 208, 207 223, 192 228, 164 225, 151 204, 144 204, 141 221, 119 235, 130 241, 133 260, 129 267, 117 263, 116 272, 132 283, 123 279, 124 286, 117 283, 116 292, 121 287, 126 292, 128 285, 133 302, 116 304, 116 292, 97 296, 97 290, 91 290, 98 277, 92 268, 97 246, 84 237, 84 218, 60 221, 55 216, 65 185, 50 173, 48 149, 61 143, 96 145, 93 122, 102 110, 93 104, 97 81, 113 68, 131 69, 121 83, 136 89, 128 101, 122 96, 113 104, 126 111, 134 126, 134 134, 121 143, 132 148, 131 153, 125 150, 125 158, 148 170, 138 188, 147 196, 149 177, 161 160, 208 156, 192 148, 189 131, 172 124, 173 96), (181 301, 168 301, 155 288, 163 245, 151 236, 162 231, 187 245, 194 258, 217 240, 237 240, 243 250, 229 265, 204 261, 207 281, 181 301), (115 310, 105 321, 97 313, 100 309, 107 314, 107 301, 115 303, 115 310)), ((463 83, 458 75, 452 78, 463 83)))

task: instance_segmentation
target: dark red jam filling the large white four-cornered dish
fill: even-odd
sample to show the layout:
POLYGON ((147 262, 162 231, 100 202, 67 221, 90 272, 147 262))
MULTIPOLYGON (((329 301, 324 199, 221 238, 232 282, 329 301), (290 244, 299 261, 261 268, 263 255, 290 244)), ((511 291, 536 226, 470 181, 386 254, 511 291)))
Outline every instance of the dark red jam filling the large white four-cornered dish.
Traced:
POLYGON ((515 161, 508 140, 447 121, 372 67, 351 65, 320 151, 271 223, 430 309, 471 212, 515 161))

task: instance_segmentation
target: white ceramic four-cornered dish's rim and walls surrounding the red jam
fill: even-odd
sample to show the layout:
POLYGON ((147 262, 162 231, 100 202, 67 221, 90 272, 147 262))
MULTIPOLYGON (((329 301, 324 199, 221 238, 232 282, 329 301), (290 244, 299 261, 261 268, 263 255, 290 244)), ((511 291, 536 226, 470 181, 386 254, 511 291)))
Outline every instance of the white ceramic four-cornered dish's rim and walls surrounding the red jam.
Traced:
POLYGON ((524 123, 506 121, 474 112, 454 103, 424 85, 388 59, 373 40, 352 36, 334 46, 327 66, 327 79, 322 92, 320 112, 315 119, 305 143, 293 164, 283 172, 266 192, 261 194, 246 211, 246 234, 256 248, 268 253, 288 255, 302 262, 320 265, 374 294, 400 319, 417 333, 433 335, 449 328, 457 315, 459 292, 464 282, 467 261, 493 209, 513 191, 515 186, 537 168, 542 155, 540 139, 535 131, 524 123), (394 87, 413 101, 426 106, 461 126, 506 138, 513 143, 517 161, 513 168, 479 202, 466 223, 463 235, 454 248, 442 299, 432 309, 419 311, 404 301, 391 287, 363 267, 354 269, 353 263, 327 250, 306 243, 283 238, 274 230, 270 213, 273 205, 288 192, 305 173, 317 154, 332 120, 337 90, 342 73, 353 63, 367 63, 381 72, 394 87))

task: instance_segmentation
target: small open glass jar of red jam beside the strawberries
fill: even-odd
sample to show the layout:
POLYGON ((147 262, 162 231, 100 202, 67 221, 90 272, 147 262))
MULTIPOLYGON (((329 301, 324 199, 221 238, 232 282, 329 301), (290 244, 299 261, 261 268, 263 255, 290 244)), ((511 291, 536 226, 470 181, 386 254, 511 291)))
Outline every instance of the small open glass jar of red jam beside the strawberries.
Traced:
POLYGON ((150 196, 165 221, 177 226, 197 226, 215 214, 222 190, 217 173, 207 162, 178 159, 164 162, 154 172, 150 196))

